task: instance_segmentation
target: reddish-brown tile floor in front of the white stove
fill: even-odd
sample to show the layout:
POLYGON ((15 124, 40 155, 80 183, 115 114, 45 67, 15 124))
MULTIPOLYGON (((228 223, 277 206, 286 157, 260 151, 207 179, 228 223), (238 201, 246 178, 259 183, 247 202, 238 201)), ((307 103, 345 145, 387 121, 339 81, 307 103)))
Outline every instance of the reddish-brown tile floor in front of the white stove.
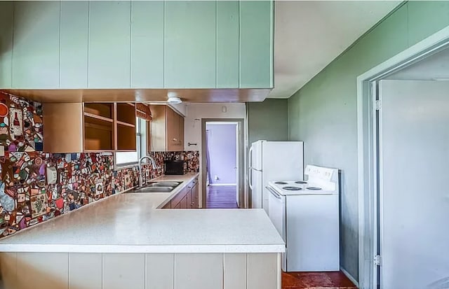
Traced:
POLYGON ((342 272, 282 273, 282 289, 356 289, 342 272))

